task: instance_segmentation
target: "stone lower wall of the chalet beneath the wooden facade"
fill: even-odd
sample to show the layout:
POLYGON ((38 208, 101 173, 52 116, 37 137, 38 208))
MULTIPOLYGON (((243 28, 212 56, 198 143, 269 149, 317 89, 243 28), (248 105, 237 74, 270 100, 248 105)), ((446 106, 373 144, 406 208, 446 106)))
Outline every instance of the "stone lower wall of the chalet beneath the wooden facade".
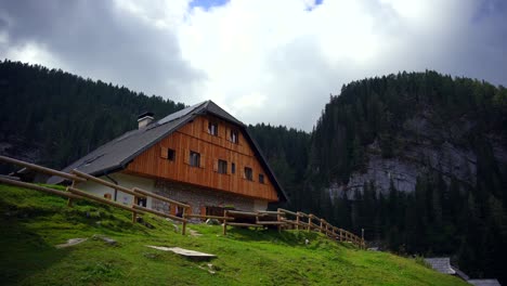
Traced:
MULTIPOLYGON (((257 210, 256 207, 268 206, 268 202, 169 181, 156 181, 154 193, 191 205, 192 213, 200 213, 202 207, 232 207, 238 210, 253 211, 257 210)), ((152 208, 170 211, 168 204, 158 199, 153 199, 152 208)))

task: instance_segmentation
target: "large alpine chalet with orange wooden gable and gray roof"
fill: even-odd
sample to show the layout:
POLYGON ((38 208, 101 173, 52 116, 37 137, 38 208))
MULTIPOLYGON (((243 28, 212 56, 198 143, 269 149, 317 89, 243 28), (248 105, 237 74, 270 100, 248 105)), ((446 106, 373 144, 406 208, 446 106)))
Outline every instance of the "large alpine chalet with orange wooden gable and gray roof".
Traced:
MULTIPOLYGON (((138 121, 139 129, 100 146, 64 171, 77 169, 126 187, 138 186, 188 204, 193 213, 200 214, 221 214, 224 208, 261 210, 268 203, 287 199, 246 126, 213 102, 157 121, 147 113, 138 121)), ((126 205, 133 200, 94 182, 77 187, 126 205)), ((178 213, 157 199, 140 204, 178 213)))

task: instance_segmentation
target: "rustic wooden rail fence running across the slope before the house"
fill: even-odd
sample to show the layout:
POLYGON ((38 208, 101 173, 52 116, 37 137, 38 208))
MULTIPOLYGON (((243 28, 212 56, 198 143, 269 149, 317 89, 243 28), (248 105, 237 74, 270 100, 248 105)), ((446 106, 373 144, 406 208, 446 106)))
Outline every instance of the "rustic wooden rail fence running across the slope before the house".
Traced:
POLYGON ((165 196, 160 196, 154 194, 152 192, 144 191, 139 187, 128 188, 118 184, 114 184, 108 181, 104 181, 100 178, 90 176, 88 173, 83 173, 78 170, 73 170, 72 173, 61 172, 57 170, 53 170, 50 168, 46 168, 42 166, 38 166, 35 164, 29 164, 26 161, 9 158, 5 156, 0 156, 0 161, 14 164, 18 166, 23 166, 29 169, 34 169, 39 172, 48 173, 51 176, 57 176, 65 178, 72 182, 69 186, 67 186, 66 191, 54 190, 51 187, 40 186, 37 184, 26 183, 16 181, 6 177, 0 177, 0 183, 11 184, 15 186, 31 188, 44 193, 49 193, 52 195, 62 196, 68 199, 68 206, 73 206, 73 200, 76 199, 89 199, 93 202, 98 202, 101 204, 105 204, 108 206, 117 207, 123 210, 128 210, 132 212, 132 223, 136 222, 136 217, 139 213, 153 213, 155 216, 159 216, 162 218, 169 218, 174 221, 179 221, 182 223, 182 231, 181 233, 184 235, 186 230, 186 224, 188 219, 216 219, 222 222, 223 234, 226 234, 227 226, 238 226, 238 227, 270 227, 276 226, 278 231, 282 230, 301 230, 301 231, 314 231, 325 234, 327 237, 334 240, 339 242, 350 242, 361 248, 365 248, 366 244, 362 237, 348 232, 342 229, 338 229, 326 220, 321 219, 312 213, 304 213, 301 211, 290 211, 283 208, 278 208, 276 211, 269 211, 269 210, 259 210, 259 211, 239 211, 239 210, 224 210, 223 217, 220 216, 203 216, 203 214, 191 214, 188 209, 191 206, 170 199, 165 196), (92 195, 88 192, 79 190, 76 187, 76 184, 79 182, 86 181, 93 181, 95 183, 102 184, 104 186, 121 191, 126 194, 130 194, 133 196, 132 205, 123 205, 116 202, 113 202, 108 198, 99 197, 92 195), (170 206, 178 206, 182 209, 182 217, 172 216, 162 211, 154 210, 151 208, 142 207, 138 205, 140 198, 152 197, 164 203, 169 204, 170 206))

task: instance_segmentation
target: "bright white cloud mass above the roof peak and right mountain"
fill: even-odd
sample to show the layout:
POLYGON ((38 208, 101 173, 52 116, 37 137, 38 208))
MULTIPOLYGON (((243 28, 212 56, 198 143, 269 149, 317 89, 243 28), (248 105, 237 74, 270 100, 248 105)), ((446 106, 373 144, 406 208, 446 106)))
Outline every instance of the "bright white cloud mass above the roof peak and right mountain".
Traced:
POLYGON ((183 58, 208 75, 202 99, 223 102, 247 122, 310 130, 329 93, 350 80, 455 72, 445 57, 467 37, 476 9, 469 0, 328 0, 309 11, 307 2, 231 1, 190 11, 178 38, 183 58), (237 108, 244 94, 250 104, 237 108))

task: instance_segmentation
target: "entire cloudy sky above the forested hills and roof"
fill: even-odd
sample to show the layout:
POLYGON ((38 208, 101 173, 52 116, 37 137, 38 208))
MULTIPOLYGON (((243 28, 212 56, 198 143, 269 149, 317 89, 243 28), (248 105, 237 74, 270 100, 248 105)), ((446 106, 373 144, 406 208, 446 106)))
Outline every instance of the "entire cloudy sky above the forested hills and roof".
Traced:
POLYGON ((507 1, 1 1, 0 57, 311 130, 355 79, 435 69, 507 86, 507 1))

